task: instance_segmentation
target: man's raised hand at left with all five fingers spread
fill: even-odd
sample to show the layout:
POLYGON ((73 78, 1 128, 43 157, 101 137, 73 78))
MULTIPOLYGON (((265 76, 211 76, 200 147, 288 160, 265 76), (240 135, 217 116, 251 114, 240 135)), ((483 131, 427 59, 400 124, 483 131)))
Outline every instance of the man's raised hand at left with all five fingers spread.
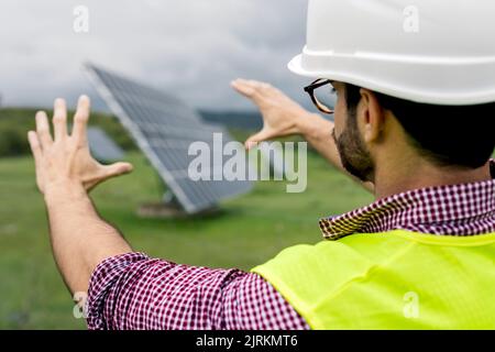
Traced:
POLYGON ((86 127, 89 119, 90 101, 79 98, 74 117, 72 134, 67 132, 67 108, 63 99, 54 103, 54 139, 50 132, 46 113, 36 113, 36 131, 30 131, 28 139, 36 167, 36 183, 41 193, 64 183, 80 184, 87 191, 114 176, 130 173, 132 165, 116 163, 102 165, 89 152, 86 127))

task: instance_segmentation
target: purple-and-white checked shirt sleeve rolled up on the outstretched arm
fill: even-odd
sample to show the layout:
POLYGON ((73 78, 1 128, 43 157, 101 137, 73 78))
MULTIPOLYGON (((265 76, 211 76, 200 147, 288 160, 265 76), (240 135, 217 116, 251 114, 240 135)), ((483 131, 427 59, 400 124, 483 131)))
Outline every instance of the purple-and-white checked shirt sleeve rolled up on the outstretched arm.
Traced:
POLYGON ((257 274, 179 265, 143 253, 118 255, 98 265, 86 312, 91 330, 309 329, 257 274))

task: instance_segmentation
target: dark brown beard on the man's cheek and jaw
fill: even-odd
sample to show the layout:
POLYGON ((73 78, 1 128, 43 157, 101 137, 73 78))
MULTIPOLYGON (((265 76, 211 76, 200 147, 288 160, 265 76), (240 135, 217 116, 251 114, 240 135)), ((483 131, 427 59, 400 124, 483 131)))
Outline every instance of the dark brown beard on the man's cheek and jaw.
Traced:
POLYGON ((339 138, 336 136, 336 130, 332 136, 344 169, 362 182, 374 182, 375 166, 359 133, 355 114, 350 113, 345 129, 339 138))

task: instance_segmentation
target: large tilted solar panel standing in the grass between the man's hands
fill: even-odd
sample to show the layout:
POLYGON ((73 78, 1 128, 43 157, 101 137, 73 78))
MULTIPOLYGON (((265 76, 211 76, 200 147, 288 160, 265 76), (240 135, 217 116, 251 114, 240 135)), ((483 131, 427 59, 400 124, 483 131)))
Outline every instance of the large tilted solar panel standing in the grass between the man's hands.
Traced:
MULTIPOLYGON (((213 133, 222 133, 223 143, 232 141, 222 127, 204 122, 194 109, 158 89, 91 64, 86 67, 100 96, 186 212, 212 208, 221 199, 251 190, 249 180, 195 182, 188 177, 189 163, 196 157, 188 155, 190 143, 201 141, 212 150, 213 133)), ((211 167, 218 169, 223 165, 217 163, 211 167)))

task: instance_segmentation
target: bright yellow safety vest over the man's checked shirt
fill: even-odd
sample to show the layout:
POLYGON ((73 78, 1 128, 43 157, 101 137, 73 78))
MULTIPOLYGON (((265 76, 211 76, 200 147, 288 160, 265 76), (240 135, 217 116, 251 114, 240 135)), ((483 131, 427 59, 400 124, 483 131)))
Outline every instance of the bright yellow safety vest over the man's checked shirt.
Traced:
POLYGON ((312 329, 495 328, 495 233, 352 234, 252 271, 312 329))

